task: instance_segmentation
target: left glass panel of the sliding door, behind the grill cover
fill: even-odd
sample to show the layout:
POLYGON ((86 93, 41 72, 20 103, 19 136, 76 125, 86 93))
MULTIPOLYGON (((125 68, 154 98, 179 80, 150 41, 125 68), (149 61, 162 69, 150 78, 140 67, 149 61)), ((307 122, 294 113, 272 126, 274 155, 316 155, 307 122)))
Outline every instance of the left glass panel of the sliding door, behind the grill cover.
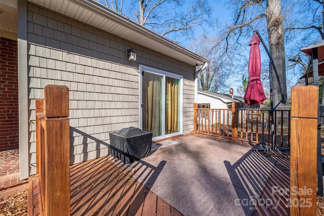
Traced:
POLYGON ((163 135, 163 76, 142 71, 142 130, 163 135))

